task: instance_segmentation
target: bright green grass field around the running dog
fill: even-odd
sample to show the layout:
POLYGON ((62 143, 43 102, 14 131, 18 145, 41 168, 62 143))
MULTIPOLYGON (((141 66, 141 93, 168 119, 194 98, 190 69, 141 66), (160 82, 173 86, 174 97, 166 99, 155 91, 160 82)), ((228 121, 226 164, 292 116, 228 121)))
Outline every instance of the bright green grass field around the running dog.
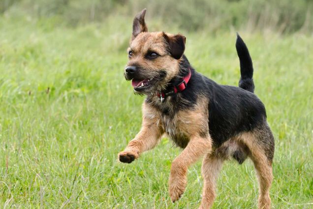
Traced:
MULTIPOLYGON (((195 69, 237 85, 235 32, 182 33, 195 69)), ((144 100, 123 76, 130 34, 131 19, 66 28, 0 17, 0 208, 199 206, 201 162, 182 199, 170 201, 169 169, 181 150, 169 139, 129 165, 117 161, 140 129, 144 100)), ((273 208, 313 208, 313 36, 240 34, 276 139, 273 208)), ((257 193, 251 162, 226 162, 214 208, 256 208, 257 193)))

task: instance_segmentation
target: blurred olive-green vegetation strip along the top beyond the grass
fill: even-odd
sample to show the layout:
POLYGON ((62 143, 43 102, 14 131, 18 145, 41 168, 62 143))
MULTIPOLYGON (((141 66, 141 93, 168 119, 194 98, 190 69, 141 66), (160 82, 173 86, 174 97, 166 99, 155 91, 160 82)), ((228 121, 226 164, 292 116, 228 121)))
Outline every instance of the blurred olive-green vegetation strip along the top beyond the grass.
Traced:
POLYGON ((143 7, 148 19, 186 31, 275 31, 313 33, 312 0, 1 0, 0 14, 29 20, 52 19, 75 27, 133 17, 143 7))

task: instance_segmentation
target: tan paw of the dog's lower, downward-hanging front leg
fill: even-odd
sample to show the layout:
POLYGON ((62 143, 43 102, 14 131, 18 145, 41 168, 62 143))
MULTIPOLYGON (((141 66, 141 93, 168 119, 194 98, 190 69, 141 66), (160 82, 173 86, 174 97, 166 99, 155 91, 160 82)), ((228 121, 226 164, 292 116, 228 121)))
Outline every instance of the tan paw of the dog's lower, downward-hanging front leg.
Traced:
POLYGON ((187 185, 187 177, 184 176, 170 176, 169 180, 169 194, 172 202, 179 200, 185 192, 187 185))

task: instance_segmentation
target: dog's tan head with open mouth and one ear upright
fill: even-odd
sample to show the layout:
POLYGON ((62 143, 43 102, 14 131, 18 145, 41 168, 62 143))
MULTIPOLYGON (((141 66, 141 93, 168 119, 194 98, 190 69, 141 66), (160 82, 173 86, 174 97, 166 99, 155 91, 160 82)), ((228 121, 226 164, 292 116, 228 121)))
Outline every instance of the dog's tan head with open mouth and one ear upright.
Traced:
POLYGON ((146 9, 139 12, 132 26, 132 36, 125 68, 126 80, 132 80, 136 93, 161 91, 179 74, 179 63, 185 51, 186 37, 164 32, 148 32, 146 9))

